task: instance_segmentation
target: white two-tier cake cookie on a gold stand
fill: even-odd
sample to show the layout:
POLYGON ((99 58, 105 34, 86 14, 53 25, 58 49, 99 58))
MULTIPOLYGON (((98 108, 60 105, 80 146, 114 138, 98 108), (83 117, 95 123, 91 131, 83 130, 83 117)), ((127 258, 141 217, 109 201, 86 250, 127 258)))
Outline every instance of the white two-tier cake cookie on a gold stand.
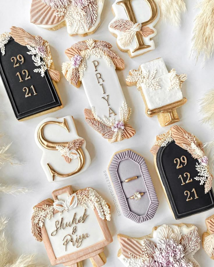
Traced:
POLYGON ((146 115, 158 116, 162 127, 179 121, 176 111, 187 101, 181 92, 186 74, 177 75, 173 68, 168 72, 163 58, 141 64, 138 71, 130 70, 126 79, 128 86, 137 86, 146 106, 146 115))

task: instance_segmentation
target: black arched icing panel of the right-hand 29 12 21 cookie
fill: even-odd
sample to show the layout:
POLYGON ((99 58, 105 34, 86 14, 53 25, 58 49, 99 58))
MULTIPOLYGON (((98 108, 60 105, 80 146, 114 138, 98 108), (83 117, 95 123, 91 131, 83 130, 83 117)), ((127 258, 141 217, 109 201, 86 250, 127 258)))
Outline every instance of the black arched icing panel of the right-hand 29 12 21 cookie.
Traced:
POLYGON ((198 160, 192 158, 187 150, 172 141, 158 150, 156 161, 175 219, 188 217, 214 207, 213 190, 205 194, 204 185, 200 185, 200 181, 194 179, 194 177, 199 176, 195 167, 198 160), (184 166, 184 163, 181 162, 183 167, 177 169, 177 163, 174 163, 174 159, 180 159, 181 156, 187 158, 187 164, 184 166), (185 172, 190 174, 192 182, 186 183, 187 175, 184 177, 185 172), (181 185, 182 181, 179 175, 182 175, 185 185, 181 185), (195 199, 194 192, 191 192, 193 188, 195 188, 198 199, 195 199), (187 201, 188 195, 184 194, 185 191, 190 192, 192 200, 187 201))

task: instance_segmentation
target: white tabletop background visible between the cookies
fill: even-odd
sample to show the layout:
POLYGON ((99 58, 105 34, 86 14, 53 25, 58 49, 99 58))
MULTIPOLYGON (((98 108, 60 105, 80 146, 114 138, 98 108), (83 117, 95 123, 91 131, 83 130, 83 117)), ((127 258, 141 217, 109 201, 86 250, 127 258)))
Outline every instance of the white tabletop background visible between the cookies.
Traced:
MULTIPOLYGON (((31 234, 31 214, 34 205, 43 199, 49 198, 53 190, 69 184, 72 184, 74 189, 94 187, 94 189, 112 205, 112 220, 108 225, 113 235, 114 242, 105 248, 107 256, 106 267, 123 266, 117 259, 117 251, 120 247, 117 241, 118 233, 132 237, 140 237, 149 234, 153 226, 163 223, 183 222, 194 223, 199 229, 200 236, 202 236, 202 233, 206 230, 204 220, 211 216, 214 210, 209 210, 178 221, 173 219, 154 169, 153 156, 149 152, 155 142, 156 135, 167 131, 169 127, 161 128, 157 117, 147 117, 144 112, 145 106, 140 92, 136 87, 127 87, 125 84, 125 78, 131 68, 136 69, 144 62, 157 57, 163 57, 168 70, 176 68, 179 74, 188 74, 188 80, 185 82, 182 89, 183 95, 188 99, 188 102, 178 109, 181 119, 178 125, 194 133, 202 142, 207 142, 213 138, 211 129, 208 126, 202 126, 199 121, 201 117, 198 113, 199 103, 197 102, 204 92, 213 86, 213 59, 206 62, 204 68, 202 68, 201 62, 196 64, 193 58, 189 58, 193 19, 198 12, 197 9, 193 9, 195 2, 196 1, 186 0, 188 12, 182 15, 181 28, 176 29, 172 26, 167 26, 162 20, 159 20, 156 25, 158 33, 154 38, 156 49, 145 55, 131 59, 128 54, 117 49, 115 37, 108 32, 108 23, 113 18, 111 13, 111 4, 113 1, 105 1, 101 16, 101 26, 97 32, 90 37, 103 39, 113 44, 113 49, 125 61, 125 70, 117 71, 117 73, 126 101, 128 105, 132 107, 133 112, 130 124, 136 129, 136 134, 129 140, 109 144, 84 121, 83 109, 90 108, 90 106, 83 87, 81 86, 80 89, 76 89, 70 86, 62 76, 58 87, 65 107, 60 111, 51 113, 50 116, 74 116, 79 135, 85 138, 86 147, 91 156, 91 165, 88 170, 67 181, 49 183, 40 165, 42 151, 35 144, 34 131, 37 124, 48 115, 34 118, 26 122, 18 122, 13 114, 3 84, 0 82, 1 108, 4 111, 4 116, 0 117, 0 128, 1 131, 6 134, 1 140, 1 144, 13 140, 10 152, 16 155, 19 162, 23 163, 18 167, 11 167, 9 165, 2 166, 0 176, 1 183, 12 183, 33 188, 32 193, 16 198, 3 194, 0 196, 0 213, 1 215, 10 217, 10 224, 6 228, 6 234, 10 240, 9 249, 14 258, 22 253, 36 253, 37 258, 43 264, 49 264, 44 244, 35 241, 31 234), (117 216, 112 196, 103 173, 104 170, 107 170, 112 155, 116 151, 126 148, 131 148, 145 157, 160 201, 155 217, 140 225, 126 219, 123 215, 120 217, 117 216)), ((30 4, 30 0, 1 1, 0 32, 9 31, 10 26, 14 25, 23 27, 31 34, 41 35, 44 39, 49 41, 55 68, 60 70, 62 62, 67 61, 64 50, 75 42, 86 38, 78 36, 69 37, 66 28, 51 32, 30 24, 30 4)), ((199 252, 196 253, 195 259, 199 262, 201 267, 214 266, 213 261, 208 258, 202 247, 199 252)), ((84 266, 91 266, 90 261, 86 260, 84 266)))

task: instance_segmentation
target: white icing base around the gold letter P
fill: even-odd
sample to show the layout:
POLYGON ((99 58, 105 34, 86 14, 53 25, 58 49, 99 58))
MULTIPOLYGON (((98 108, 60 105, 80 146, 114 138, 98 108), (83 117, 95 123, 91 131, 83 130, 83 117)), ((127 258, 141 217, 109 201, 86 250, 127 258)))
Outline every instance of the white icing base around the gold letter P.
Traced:
MULTIPOLYGON (((116 0, 112 5, 112 9, 113 9, 113 12, 115 14, 115 17, 110 22, 110 24, 113 23, 113 21, 118 20, 118 19, 125 19, 125 20, 128 19, 127 15, 126 15, 126 12, 125 12, 125 9, 121 5, 117 5, 117 2, 119 2, 119 1, 120 0, 116 0)), ((149 7, 149 5, 147 4, 146 1, 133 0, 131 2, 131 5, 132 5, 132 9, 133 9, 133 11, 135 13, 136 21, 138 23, 145 22, 151 17, 151 10, 150 10, 150 7, 149 7)), ((109 29, 109 31, 111 33, 117 35, 117 45, 120 47, 120 49, 129 50, 131 55, 134 57, 136 55, 141 55, 142 53, 146 53, 146 52, 148 52, 150 50, 154 50, 155 49, 155 43, 154 43, 153 40, 150 40, 150 39, 152 39, 157 34, 157 30, 154 27, 155 27, 155 24, 158 22, 159 17, 160 17, 160 11, 159 11, 159 8, 158 8, 158 15, 157 15, 156 19, 151 24, 147 25, 147 27, 149 27, 149 28, 154 30, 154 33, 149 35, 149 36, 147 36, 147 37, 143 37, 143 41, 144 41, 145 45, 149 45, 151 47, 143 49, 143 50, 138 50, 138 51, 135 51, 135 52, 133 52, 133 50, 136 48, 136 40, 135 40, 135 38, 133 39, 133 41, 131 42, 131 44, 129 46, 124 47, 118 41, 119 37, 121 35, 123 35, 124 33, 119 31, 119 30, 115 30, 113 28, 110 28, 110 26, 108 26, 108 29, 109 29)))

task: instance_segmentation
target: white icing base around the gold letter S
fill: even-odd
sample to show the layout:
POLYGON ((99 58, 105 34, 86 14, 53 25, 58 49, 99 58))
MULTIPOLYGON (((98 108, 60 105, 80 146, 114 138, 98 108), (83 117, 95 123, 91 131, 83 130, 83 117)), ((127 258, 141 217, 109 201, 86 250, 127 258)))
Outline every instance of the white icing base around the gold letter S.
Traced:
POLYGON ((42 158, 41 158, 41 165, 42 165, 42 168, 44 169, 44 172, 45 172, 49 182, 58 182, 58 181, 62 181, 62 180, 66 180, 66 179, 69 179, 71 177, 74 177, 74 176, 80 174, 81 172, 84 172, 88 168, 88 166, 90 165, 90 162, 91 162, 90 155, 88 153, 88 150, 86 149, 86 143, 84 142, 83 145, 81 146, 83 153, 84 153, 84 156, 85 156, 85 165, 84 165, 83 169, 79 173, 77 173, 73 176, 66 177, 66 178, 61 178, 61 177, 55 176, 54 181, 52 181, 52 177, 51 177, 50 171, 47 167, 47 163, 49 163, 57 172, 59 172, 61 174, 68 174, 70 172, 73 172, 78 167, 79 160, 78 160, 78 158, 76 158, 76 159, 72 159, 70 163, 67 163, 65 161, 65 159, 61 156, 60 151, 50 150, 50 149, 44 148, 40 144, 40 142, 38 141, 37 133, 38 133, 39 127, 44 122, 47 122, 47 121, 63 122, 64 118, 67 121, 70 132, 67 132, 65 128, 63 128, 59 125, 49 124, 49 125, 46 125, 44 127, 44 137, 47 140, 52 141, 52 142, 69 142, 69 141, 73 141, 75 139, 81 138, 76 132, 76 127, 74 124, 74 120, 72 119, 72 116, 66 116, 66 117, 59 118, 59 119, 52 118, 52 117, 47 118, 45 120, 42 120, 39 123, 39 125, 36 127, 36 130, 35 130, 36 144, 43 151, 42 158))

